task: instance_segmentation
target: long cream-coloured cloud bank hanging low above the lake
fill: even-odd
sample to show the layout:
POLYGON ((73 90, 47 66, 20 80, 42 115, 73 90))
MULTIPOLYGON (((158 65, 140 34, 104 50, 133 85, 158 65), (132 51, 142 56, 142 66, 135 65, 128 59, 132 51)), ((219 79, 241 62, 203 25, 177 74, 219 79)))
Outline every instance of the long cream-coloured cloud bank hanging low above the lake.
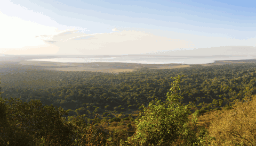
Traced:
POLYGON ((59 54, 141 54, 158 48, 175 49, 193 47, 193 42, 155 36, 141 31, 85 34, 65 31, 53 35, 45 42, 54 42, 59 54), (51 41, 50 41, 51 40, 51 41), (171 41, 170 41, 171 40, 171 41))

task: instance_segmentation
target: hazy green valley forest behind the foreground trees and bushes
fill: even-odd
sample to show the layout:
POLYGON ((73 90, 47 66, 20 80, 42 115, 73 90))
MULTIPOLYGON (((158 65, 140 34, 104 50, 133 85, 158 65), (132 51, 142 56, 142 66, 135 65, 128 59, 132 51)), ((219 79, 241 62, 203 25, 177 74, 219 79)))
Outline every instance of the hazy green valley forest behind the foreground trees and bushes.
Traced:
POLYGON ((92 118, 95 113, 105 112, 94 111, 97 107, 120 113, 138 110, 141 104, 165 98, 173 81, 169 77, 180 73, 185 75, 179 91, 184 97, 183 104, 201 104, 198 108, 204 107, 205 111, 223 107, 243 98, 248 85, 253 87, 250 92, 256 93, 255 66, 255 63, 190 65, 166 70, 141 68, 118 74, 26 68, 0 72, 0 75, 3 78, 2 96, 6 99, 16 97, 26 102, 39 99, 43 105, 61 106, 65 110, 84 107, 86 111, 81 110, 81 113, 92 118))

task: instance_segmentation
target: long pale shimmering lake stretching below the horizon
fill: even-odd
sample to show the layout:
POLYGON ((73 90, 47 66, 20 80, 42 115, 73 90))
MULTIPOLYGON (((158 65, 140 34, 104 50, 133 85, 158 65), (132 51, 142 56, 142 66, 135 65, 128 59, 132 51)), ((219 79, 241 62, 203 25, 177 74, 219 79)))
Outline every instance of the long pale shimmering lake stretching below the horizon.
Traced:
MULTIPOLYGON (((256 57, 256 56, 255 56, 256 57)), ((140 63, 140 64, 207 64, 214 61, 230 61, 243 59, 256 59, 253 56, 150 56, 150 55, 102 55, 102 56, 85 56, 85 57, 57 57, 28 59, 27 61, 46 61, 61 63, 91 63, 91 62, 118 62, 118 63, 140 63)))

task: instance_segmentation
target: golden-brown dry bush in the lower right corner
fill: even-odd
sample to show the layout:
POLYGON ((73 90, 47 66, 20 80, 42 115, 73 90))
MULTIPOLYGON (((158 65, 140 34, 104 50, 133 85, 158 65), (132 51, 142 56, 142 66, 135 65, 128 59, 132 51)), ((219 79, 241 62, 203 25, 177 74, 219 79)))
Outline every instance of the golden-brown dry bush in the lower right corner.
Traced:
POLYGON ((211 123, 210 134, 218 145, 256 145, 256 96, 236 102, 211 123))

